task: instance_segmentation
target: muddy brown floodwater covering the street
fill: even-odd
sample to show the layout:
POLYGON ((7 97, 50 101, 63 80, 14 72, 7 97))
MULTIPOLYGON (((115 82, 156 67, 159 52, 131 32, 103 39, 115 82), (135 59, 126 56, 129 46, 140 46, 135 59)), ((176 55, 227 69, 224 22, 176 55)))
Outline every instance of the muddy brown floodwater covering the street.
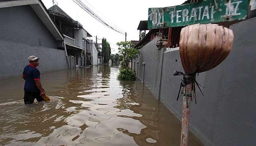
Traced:
MULTIPOLYGON (((118 73, 118 66, 41 73, 51 100, 33 105, 24 105, 21 77, 1 79, 0 145, 179 146, 176 116, 118 73)), ((202 145, 192 133, 189 144, 202 145)))

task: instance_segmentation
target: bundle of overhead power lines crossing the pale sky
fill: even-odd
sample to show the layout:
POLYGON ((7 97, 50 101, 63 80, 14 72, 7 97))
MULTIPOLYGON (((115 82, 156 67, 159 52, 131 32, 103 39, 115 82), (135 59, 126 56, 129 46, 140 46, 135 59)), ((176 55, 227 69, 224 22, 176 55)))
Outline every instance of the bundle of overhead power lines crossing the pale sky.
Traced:
POLYGON ((87 7, 81 0, 73 0, 73 2, 76 3, 76 5, 78 5, 79 7, 81 7, 84 11, 86 11, 88 14, 90 14, 90 16, 92 16, 93 18, 95 18, 97 21, 99 21, 100 23, 102 23, 103 25, 109 27, 110 29, 119 32, 121 34, 125 35, 125 32, 122 32, 121 30, 116 29, 114 26, 108 25, 102 18, 100 18, 100 16, 98 16, 97 14, 95 14, 89 7, 87 7))

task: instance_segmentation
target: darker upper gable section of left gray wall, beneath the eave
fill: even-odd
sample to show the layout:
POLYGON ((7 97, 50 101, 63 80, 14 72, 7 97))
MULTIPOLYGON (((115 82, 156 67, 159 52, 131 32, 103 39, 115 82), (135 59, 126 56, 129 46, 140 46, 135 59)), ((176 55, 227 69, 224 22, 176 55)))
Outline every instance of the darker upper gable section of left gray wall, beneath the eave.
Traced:
POLYGON ((29 5, 0 8, 0 39, 56 48, 54 37, 29 5))

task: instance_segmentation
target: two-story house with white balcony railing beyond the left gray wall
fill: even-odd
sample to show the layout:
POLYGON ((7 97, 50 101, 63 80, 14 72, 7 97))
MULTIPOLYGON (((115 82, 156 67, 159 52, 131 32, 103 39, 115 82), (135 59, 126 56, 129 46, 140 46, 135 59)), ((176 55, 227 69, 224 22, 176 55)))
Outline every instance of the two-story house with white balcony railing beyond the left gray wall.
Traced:
POLYGON ((78 21, 74 21, 60 7, 54 5, 48 9, 50 17, 57 25, 58 29, 64 36, 67 54, 70 57, 70 66, 93 65, 91 63, 92 52, 87 48, 87 37, 91 35, 83 28, 78 21), (71 59, 74 57, 74 62, 71 59))

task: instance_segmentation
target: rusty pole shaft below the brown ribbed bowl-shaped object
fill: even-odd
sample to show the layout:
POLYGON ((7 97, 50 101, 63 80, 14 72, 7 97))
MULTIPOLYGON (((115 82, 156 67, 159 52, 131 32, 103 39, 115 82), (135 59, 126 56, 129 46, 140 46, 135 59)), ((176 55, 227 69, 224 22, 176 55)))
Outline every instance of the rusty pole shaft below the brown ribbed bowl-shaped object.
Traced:
MULTIPOLYGON (((190 76, 185 75, 185 78, 188 78, 188 77, 190 76)), ((190 96, 186 97, 185 95, 192 95, 192 83, 185 85, 185 89, 183 91, 180 146, 188 146, 188 133, 189 133, 189 123, 190 123, 190 102, 192 97, 190 96), (188 107, 187 107, 187 102, 188 102, 188 107)))

